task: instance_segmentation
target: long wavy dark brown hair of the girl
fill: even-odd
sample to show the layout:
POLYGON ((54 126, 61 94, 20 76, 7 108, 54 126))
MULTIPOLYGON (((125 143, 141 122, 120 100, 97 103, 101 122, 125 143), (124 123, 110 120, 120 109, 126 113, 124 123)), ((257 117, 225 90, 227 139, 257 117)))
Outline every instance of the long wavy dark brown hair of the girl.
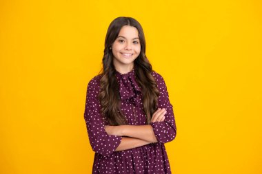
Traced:
POLYGON ((141 52, 134 61, 134 72, 137 83, 141 87, 143 111, 147 123, 150 123, 152 114, 157 110, 157 100, 159 90, 157 83, 152 76, 152 65, 145 56, 145 36, 140 23, 132 17, 118 17, 114 19, 105 36, 105 49, 103 54, 103 69, 100 81, 99 101, 101 104, 101 114, 110 125, 127 124, 127 120, 121 111, 121 99, 119 94, 119 84, 115 76, 116 70, 113 65, 113 54, 110 47, 117 39, 121 28, 124 25, 130 25, 137 28, 139 32, 139 41, 141 43, 141 52))

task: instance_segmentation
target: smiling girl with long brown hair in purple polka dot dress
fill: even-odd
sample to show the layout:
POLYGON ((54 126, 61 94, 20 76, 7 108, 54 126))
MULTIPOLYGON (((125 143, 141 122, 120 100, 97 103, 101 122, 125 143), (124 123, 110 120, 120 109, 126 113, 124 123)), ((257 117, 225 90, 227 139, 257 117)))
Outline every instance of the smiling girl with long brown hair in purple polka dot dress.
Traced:
POLYGON ((84 118, 95 152, 92 173, 171 173, 164 143, 176 137, 174 113, 137 20, 110 23, 103 72, 88 83, 84 118))

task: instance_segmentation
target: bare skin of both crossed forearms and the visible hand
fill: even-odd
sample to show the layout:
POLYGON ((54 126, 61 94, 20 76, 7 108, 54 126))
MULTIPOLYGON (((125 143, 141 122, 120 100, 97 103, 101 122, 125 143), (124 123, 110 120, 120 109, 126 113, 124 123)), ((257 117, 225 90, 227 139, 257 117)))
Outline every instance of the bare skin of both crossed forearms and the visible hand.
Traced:
MULTIPOLYGON (((152 115, 151 122, 163 122, 163 120, 165 120, 166 112, 167 111, 164 108, 157 109, 157 111, 152 115)), ((150 124, 105 126, 105 131, 108 135, 123 136, 121 143, 115 151, 123 151, 150 144, 152 142, 157 142, 157 138, 154 135, 153 128, 150 124)))

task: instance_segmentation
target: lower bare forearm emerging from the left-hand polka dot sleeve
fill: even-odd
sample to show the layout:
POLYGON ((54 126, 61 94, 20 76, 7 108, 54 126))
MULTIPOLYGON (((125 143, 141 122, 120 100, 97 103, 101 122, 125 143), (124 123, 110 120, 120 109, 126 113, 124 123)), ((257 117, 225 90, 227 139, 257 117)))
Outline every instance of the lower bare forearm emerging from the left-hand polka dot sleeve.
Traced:
POLYGON ((119 144, 119 146, 117 147, 115 151, 133 149, 138 146, 144 146, 146 144, 150 144, 150 142, 147 142, 145 140, 140 140, 137 138, 122 137, 121 143, 119 144))

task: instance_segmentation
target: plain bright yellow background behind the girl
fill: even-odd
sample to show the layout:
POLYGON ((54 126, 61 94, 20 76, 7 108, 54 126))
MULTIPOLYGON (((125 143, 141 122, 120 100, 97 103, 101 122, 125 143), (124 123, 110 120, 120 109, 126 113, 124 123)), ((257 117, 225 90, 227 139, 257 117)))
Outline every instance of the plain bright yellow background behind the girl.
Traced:
POLYGON ((83 120, 105 33, 143 26, 177 120, 172 173, 262 173, 262 3, 0 1, 0 173, 91 173, 83 120))

